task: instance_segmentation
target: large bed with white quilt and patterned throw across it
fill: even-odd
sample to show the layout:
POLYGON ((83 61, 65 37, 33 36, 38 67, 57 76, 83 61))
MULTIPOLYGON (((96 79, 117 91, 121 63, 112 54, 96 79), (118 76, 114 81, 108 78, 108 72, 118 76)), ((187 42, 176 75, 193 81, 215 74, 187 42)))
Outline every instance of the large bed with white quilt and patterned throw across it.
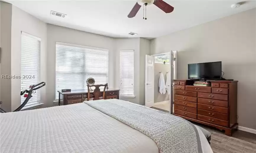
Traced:
POLYGON ((0 121, 1 152, 212 153, 199 127, 119 99, 3 113, 0 121))

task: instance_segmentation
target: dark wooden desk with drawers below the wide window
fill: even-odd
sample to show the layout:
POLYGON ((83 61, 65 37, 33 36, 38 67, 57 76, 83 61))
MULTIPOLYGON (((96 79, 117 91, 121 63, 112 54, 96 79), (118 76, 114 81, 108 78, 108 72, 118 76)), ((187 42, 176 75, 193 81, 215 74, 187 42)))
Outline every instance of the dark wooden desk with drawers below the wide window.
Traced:
MULTIPOLYGON (((70 92, 59 92, 59 105, 68 105, 83 102, 87 99, 88 90, 71 90, 70 92), (62 100, 62 102, 61 102, 62 100)), ((92 97, 92 92, 90 97, 92 97)), ((105 99, 119 99, 119 89, 109 88, 105 91, 105 99)))

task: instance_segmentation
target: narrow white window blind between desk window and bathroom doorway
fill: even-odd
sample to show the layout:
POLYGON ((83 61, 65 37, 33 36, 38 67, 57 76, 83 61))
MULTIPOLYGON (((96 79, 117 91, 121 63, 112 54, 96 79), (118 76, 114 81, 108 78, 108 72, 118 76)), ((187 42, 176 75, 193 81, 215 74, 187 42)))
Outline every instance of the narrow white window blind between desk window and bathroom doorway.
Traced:
POLYGON ((120 51, 120 96, 134 96, 134 51, 120 51))

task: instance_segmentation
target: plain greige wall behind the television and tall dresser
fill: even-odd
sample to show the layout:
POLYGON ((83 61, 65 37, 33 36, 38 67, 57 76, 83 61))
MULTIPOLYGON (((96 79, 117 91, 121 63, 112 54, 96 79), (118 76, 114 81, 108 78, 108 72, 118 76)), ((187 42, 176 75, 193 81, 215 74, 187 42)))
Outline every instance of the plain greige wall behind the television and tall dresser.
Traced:
POLYGON ((222 61, 223 76, 238 80, 238 123, 256 129, 256 9, 177 31, 151 41, 151 54, 178 51, 178 79, 187 64, 222 61))

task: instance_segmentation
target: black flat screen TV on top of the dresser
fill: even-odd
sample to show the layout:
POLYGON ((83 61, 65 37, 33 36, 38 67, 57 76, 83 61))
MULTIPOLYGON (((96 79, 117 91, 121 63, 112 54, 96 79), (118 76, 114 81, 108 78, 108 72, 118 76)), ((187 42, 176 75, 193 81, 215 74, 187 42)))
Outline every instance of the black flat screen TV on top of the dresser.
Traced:
POLYGON ((221 61, 188 64, 188 79, 221 79, 221 61))

